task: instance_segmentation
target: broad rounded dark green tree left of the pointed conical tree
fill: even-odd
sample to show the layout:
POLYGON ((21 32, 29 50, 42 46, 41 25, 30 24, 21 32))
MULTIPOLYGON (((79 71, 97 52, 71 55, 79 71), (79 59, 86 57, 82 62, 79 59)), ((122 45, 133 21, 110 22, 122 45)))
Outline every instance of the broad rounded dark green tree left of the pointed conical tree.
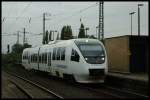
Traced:
POLYGON ((61 40, 68 40, 68 39, 72 39, 72 29, 71 26, 67 25, 67 26, 63 26, 62 30, 61 30, 61 40))

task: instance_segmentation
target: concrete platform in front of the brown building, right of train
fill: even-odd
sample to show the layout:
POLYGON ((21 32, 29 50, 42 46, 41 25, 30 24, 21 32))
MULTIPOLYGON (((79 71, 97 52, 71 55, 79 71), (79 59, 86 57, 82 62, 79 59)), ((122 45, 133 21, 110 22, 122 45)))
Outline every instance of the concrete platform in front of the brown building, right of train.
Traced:
POLYGON ((143 95, 149 92, 149 76, 146 73, 117 73, 109 72, 105 84, 130 90, 143 95))

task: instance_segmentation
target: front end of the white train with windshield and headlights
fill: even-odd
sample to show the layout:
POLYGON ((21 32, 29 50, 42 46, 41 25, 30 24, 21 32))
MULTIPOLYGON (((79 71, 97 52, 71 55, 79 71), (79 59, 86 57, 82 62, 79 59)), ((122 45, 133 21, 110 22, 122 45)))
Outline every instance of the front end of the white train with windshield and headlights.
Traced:
POLYGON ((75 41, 75 44, 82 58, 76 80, 80 83, 103 83, 108 71, 103 43, 96 39, 81 39, 75 41))

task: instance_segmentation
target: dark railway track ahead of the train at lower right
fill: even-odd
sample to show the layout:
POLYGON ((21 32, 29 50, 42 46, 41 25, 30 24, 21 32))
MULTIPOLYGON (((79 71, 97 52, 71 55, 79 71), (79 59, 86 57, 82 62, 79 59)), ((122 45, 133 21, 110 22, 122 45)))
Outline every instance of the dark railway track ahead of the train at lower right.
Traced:
POLYGON ((76 86, 99 92, 99 93, 104 93, 106 95, 109 95, 110 97, 115 97, 115 98, 148 98, 148 96, 127 91, 127 90, 122 90, 119 88, 107 86, 104 84, 88 84, 88 85, 83 85, 83 84, 76 84, 76 86))

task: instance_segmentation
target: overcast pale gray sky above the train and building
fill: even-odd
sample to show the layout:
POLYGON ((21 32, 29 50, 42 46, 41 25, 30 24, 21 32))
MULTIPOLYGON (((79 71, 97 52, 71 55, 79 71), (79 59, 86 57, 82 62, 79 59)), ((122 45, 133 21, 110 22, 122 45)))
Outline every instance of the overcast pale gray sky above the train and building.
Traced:
MULTIPOLYGON (((137 4, 140 7, 141 35, 148 35, 148 2, 104 2, 104 37, 114 37, 131 34, 130 12, 136 13, 133 18, 133 35, 138 32, 137 4)), ((57 30, 59 33, 64 25, 71 25, 73 35, 77 36, 81 25, 89 27, 88 34, 96 35, 99 6, 97 2, 2 2, 2 53, 7 52, 7 44, 12 46, 17 41, 17 31, 39 34, 43 32, 43 13, 47 12, 46 30, 57 30), (87 9, 86 9, 87 8, 87 9), (29 19, 30 23, 29 23, 29 19)), ((42 35, 26 34, 27 42, 33 47, 42 45, 42 35)), ((19 42, 23 43, 23 33, 19 42)), ((56 33, 55 33, 56 36, 56 33)))

